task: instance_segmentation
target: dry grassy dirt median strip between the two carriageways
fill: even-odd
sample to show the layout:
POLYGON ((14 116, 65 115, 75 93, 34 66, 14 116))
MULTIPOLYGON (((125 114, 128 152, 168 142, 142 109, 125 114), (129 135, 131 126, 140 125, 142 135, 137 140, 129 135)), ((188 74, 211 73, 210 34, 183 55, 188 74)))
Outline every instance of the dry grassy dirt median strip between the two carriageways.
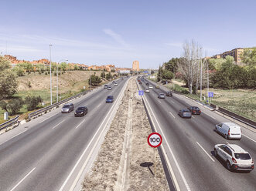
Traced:
POLYGON ((142 165, 154 163, 154 149, 147 142, 151 132, 135 79, 131 79, 83 190, 169 190, 158 152, 155 177, 154 165, 142 165))

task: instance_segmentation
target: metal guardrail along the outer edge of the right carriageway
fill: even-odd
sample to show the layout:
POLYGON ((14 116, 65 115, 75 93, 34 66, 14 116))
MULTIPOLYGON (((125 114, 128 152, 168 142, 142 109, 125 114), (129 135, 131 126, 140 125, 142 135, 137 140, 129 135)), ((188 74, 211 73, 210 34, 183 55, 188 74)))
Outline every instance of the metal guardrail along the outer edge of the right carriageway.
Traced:
MULTIPOLYGON (((145 80, 147 80, 148 82, 149 81, 151 81, 150 79, 145 79, 145 80)), ((151 82, 152 83, 152 82, 151 82)), ((162 85, 159 85, 160 87, 162 86, 162 85)), ((165 86, 164 86, 165 87, 165 86)), ((166 88, 166 87, 165 87, 166 88)), ((163 90, 163 89, 162 89, 163 90)), ((165 90, 163 90, 164 92, 166 92, 165 90)), ((172 92, 175 92, 175 91, 172 91, 172 92)), ((177 93, 177 92, 176 92, 177 93)), ((180 94, 179 92, 178 92, 178 94, 180 94)), ((191 99, 191 98, 189 98, 189 99, 191 99)), ((193 100, 195 100, 196 102, 200 102, 200 101, 198 101, 198 100, 196 100, 196 99, 193 99, 193 100)), ((203 104, 202 102, 200 102, 201 104, 203 104)), ((203 104, 204 106, 209 106, 209 105, 206 105, 206 104, 203 104)), ((232 119, 234 119, 234 120, 237 120, 237 121, 239 121, 239 122, 242 122, 242 123, 244 123, 244 124, 246 124, 247 126, 251 126, 251 127, 253 127, 254 129, 256 129, 256 122, 254 122, 254 121, 252 121, 251 119, 247 119, 247 118, 245 118, 245 117, 243 117, 243 116, 239 116, 239 115, 237 115, 236 113, 234 113, 234 112, 230 112, 230 111, 228 111, 227 109, 224 109, 224 108, 221 108, 221 107, 217 107, 217 106, 215 106, 215 105, 213 105, 213 104, 210 104, 210 106, 209 106, 210 108, 212 108, 212 109, 214 109, 215 111, 217 111, 217 112, 220 112, 220 113, 222 113, 223 115, 226 115, 226 116, 228 116, 228 117, 230 117, 230 118, 232 118, 232 119)))

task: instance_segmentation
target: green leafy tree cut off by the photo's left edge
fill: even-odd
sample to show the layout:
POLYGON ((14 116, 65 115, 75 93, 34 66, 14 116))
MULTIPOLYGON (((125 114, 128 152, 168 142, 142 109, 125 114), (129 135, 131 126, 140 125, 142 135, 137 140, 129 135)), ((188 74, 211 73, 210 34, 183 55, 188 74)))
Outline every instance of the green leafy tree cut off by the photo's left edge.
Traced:
POLYGON ((17 75, 8 60, 0 57, 0 100, 11 97, 17 92, 17 75))

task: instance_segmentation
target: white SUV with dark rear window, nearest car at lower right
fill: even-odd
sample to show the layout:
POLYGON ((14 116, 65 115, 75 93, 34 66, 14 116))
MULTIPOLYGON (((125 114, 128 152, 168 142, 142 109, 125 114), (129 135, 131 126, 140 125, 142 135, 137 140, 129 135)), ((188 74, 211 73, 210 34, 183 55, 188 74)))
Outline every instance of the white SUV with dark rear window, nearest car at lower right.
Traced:
POLYGON ((220 156, 227 163, 229 170, 247 170, 254 169, 254 160, 249 152, 235 144, 217 144, 214 146, 214 155, 220 156))

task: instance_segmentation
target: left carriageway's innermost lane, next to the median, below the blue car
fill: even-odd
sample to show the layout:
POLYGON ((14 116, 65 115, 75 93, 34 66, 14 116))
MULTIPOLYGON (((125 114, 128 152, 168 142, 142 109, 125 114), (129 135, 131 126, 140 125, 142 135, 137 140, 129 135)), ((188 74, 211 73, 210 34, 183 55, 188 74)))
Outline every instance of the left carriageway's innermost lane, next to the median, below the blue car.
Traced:
MULTIPOLYGON (((90 112, 90 120, 83 123, 79 129, 72 132, 67 139, 61 139, 60 143, 53 148, 53 155, 46 154, 42 163, 36 167, 33 176, 27 182, 22 183, 21 190, 58 190, 64 183, 65 179, 71 172, 72 167, 84 151, 84 147, 90 142, 91 136, 94 135, 104 117, 109 111, 111 104, 105 104, 103 108, 90 112), (63 168, 65 166, 65 168, 63 168), (54 167, 54 168, 53 168, 54 167), (44 171, 47 176, 43 176, 44 171), (56 179, 55 177, 58 177, 56 179), (40 183, 38 182, 40 179, 40 183)), ((88 151, 90 152, 90 151, 88 151)))

